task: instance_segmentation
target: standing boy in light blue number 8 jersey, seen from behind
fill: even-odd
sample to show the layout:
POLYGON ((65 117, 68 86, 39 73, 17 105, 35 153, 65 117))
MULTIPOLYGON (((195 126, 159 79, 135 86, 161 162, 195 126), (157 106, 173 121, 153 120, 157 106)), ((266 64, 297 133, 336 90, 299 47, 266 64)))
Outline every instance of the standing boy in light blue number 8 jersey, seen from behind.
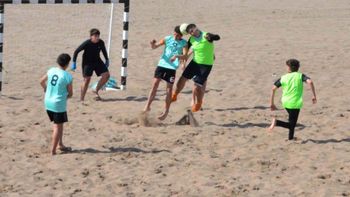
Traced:
POLYGON ((41 78, 40 85, 45 92, 45 108, 53 124, 51 154, 56 154, 56 148, 61 151, 70 151, 70 147, 63 145, 63 124, 68 122, 67 98, 73 95, 73 78, 66 71, 71 57, 61 54, 57 58, 58 67, 50 68, 41 78))

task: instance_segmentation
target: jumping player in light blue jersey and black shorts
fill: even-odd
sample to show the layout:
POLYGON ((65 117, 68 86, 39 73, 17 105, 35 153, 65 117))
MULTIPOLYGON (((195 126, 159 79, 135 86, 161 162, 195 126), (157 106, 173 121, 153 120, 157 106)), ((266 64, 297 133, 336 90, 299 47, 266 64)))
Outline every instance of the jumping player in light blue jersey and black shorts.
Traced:
POLYGON ((165 98, 165 111, 158 117, 160 120, 164 120, 168 113, 171 104, 171 93, 175 82, 176 69, 180 65, 180 61, 184 59, 184 52, 187 50, 187 42, 182 39, 180 27, 176 26, 173 35, 166 36, 158 43, 156 40, 151 41, 151 48, 156 49, 162 45, 165 45, 163 54, 158 62, 158 66, 154 72, 154 79, 152 89, 149 93, 148 101, 145 106, 144 112, 151 110, 151 103, 156 96, 156 92, 160 81, 163 79, 167 82, 166 98, 165 98))

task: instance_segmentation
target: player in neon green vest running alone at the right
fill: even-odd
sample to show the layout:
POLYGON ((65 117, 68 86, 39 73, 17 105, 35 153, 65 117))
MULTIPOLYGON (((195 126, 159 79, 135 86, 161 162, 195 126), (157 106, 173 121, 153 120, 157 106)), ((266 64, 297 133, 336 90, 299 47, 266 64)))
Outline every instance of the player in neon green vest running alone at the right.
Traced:
POLYGON ((317 102, 315 86, 312 80, 303 73, 298 72, 300 63, 296 59, 289 59, 286 62, 288 73, 278 79, 272 87, 270 107, 271 111, 276 110, 274 97, 275 92, 279 87, 282 87, 282 106, 289 114, 288 122, 277 120, 272 118, 271 126, 269 130, 275 126, 284 127, 289 129, 288 140, 294 139, 294 129, 298 121, 300 109, 303 106, 303 82, 310 85, 313 94, 312 103, 317 102))

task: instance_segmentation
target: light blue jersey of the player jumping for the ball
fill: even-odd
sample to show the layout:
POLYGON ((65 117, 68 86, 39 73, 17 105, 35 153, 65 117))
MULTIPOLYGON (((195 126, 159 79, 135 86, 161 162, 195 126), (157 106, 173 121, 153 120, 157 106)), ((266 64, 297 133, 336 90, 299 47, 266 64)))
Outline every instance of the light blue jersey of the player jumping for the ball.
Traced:
POLYGON ((159 60, 158 66, 176 70, 179 67, 179 59, 171 62, 170 59, 174 55, 181 55, 182 49, 187 45, 186 40, 175 40, 174 36, 167 36, 164 38, 165 47, 163 54, 159 60))

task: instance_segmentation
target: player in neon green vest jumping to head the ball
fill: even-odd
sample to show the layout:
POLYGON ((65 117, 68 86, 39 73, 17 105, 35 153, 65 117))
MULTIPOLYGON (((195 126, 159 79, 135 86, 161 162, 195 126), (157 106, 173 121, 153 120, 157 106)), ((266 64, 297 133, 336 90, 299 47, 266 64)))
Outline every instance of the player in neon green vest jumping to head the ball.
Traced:
MULTIPOLYGON (((207 33, 199 30, 195 24, 189 24, 186 28, 191 36, 187 42, 188 48, 192 48, 193 59, 187 65, 182 76, 176 84, 171 100, 177 100, 178 94, 185 87, 188 79, 193 79, 195 103, 192 105, 192 112, 199 111, 202 107, 205 93, 205 84, 214 64, 214 41, 220 40, 217 34, 207 33)), ((187 57, 188 50, 185 55, 187 57)))

